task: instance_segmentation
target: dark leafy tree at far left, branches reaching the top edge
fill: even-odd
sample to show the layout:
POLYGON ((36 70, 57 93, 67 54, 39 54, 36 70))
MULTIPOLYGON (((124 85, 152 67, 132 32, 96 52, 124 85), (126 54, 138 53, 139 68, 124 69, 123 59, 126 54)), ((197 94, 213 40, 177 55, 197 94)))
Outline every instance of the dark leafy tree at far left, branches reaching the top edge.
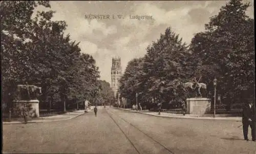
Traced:
POLYGON ((49 1, 2 1, 0 4, 3 101, 13 99, 16 83, 32 71, 28 69, 25 40, 30 37, 31 16, 38 5, 50 7, 49 1))

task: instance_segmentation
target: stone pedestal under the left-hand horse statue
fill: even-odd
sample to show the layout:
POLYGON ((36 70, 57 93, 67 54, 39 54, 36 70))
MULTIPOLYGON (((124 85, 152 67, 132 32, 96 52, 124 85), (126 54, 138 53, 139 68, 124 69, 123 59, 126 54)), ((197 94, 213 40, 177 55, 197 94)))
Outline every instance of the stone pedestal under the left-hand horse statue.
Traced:
POLYGON ((39 100, 14 100, 13 101, 13 115, 19 116, 17 111, 23 107, 31 105, 30 114, 32 117, 39 117, 39 100))

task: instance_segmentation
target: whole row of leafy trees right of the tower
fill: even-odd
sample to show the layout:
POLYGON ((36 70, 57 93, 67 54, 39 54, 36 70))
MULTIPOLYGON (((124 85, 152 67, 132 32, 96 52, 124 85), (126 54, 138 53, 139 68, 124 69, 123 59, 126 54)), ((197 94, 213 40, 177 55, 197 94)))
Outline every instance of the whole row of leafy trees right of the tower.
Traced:
POLYGON ((207 84, 212 97, 212 80, 218 79, 218 94, 224 103, 243 103, 254 97, 254 19, 246 16, 249 4, 231 0, 210 18, 205 31, 197 33, 189 46, 170 28, 147 47, 142 58, 131 60, 121 78, 120 93, 135 102, 163 106, 174 99, 185 100, 182 84, 193 77, 207 84))

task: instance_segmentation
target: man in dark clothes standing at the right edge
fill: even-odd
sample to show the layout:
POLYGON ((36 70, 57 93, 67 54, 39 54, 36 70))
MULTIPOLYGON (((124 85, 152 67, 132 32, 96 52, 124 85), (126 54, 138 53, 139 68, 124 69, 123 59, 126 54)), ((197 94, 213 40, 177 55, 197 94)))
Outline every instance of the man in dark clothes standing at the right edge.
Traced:
POLYGON ((248 127, 251 127, 252 141, 255 141, 255 107, 251 100, 249 100, 243 108, 243 133, 244 140, 248 141, 248 127))

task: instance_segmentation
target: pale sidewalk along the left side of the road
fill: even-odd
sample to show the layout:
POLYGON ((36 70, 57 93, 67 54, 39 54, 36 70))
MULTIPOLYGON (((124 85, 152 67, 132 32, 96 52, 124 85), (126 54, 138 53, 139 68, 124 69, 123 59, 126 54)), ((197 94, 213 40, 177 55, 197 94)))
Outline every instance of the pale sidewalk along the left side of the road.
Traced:
MULTIPOLYGON (((91 110, 87 110, 87 112, 91 112, 91 110)), ((84 110, 78 110, 73 112, 68 112, 62 115, 54 115, 49 117, 39 117, 39 119, 29 120, 28 123, 38 123, 38 122, 53 122, 53 121, 62 121, 62 120, 70 120, 85 114, 84 110)), ((11 122, 2 122, 3 124, 17 124, 24 123, 24 121, 11 121, 11 122)))

